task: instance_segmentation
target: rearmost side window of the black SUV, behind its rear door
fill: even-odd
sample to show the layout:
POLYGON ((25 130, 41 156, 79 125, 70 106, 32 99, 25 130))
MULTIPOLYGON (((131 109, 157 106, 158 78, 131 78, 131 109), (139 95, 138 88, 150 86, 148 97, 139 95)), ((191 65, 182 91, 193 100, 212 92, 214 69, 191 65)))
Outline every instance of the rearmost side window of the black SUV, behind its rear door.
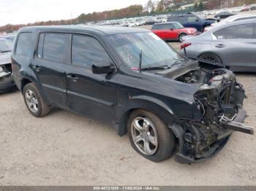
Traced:
POLYGON ((29 57, 32 52, 32 34, 31 33, 20 33, 18 36, 18 42, 16 47, 16 53, 29 57))

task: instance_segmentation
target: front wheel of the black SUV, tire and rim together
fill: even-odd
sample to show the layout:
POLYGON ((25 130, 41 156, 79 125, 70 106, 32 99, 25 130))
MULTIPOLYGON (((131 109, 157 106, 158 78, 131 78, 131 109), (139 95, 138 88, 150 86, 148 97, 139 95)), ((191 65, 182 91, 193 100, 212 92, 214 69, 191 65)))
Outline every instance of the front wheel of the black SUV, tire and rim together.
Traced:
POLYGON ((157 115, 138 109, 128 120, 129 141, 143 157, 161 162, 171 157, 175 148, 175 136, 157 115))

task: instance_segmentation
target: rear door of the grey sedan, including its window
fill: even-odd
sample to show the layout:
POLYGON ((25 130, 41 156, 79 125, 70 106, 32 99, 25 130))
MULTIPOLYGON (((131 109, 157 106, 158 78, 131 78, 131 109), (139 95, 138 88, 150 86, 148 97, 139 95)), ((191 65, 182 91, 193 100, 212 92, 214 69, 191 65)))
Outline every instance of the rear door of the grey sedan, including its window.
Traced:
POLYGON ((214 33, 211 47, 221 55, 222 62, 231 67, 256 67, 256 24, 240 24, 222 28, 214 33))

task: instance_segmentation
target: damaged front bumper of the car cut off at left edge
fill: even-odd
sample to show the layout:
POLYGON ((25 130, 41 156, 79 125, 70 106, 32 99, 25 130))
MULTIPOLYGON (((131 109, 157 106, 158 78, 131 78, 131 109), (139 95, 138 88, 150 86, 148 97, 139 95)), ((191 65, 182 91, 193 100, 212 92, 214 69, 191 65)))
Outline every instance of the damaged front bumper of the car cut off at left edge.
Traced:
POLYGON ((0 93, 15 87, 11 72, 0 72, 0 93))

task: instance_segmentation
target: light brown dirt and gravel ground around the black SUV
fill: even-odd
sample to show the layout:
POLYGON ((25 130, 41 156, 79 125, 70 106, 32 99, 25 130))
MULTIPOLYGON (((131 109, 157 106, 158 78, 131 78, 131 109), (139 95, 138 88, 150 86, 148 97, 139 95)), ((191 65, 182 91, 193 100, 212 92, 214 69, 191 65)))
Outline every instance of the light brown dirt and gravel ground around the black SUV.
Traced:
MULTIPOLYGON (((256 126, 256 75, 237 76, 256 126)), ((244 133, 205 163, 181 165, 152 163, 110 125, 71 112, 32 117, 18 91, 0 94, 0 121, 0 185, 256 185, 256 139, 244 133)))

